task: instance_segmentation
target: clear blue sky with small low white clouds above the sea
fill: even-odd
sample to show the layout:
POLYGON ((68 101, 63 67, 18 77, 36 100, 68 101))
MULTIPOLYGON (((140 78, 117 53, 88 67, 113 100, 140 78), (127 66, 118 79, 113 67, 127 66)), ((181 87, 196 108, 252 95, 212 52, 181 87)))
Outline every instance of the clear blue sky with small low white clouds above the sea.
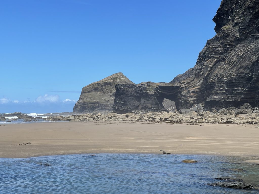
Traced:
POLYGON ((72 111, 82 87, 123 72, 169 82, 215 35, 220 0, 0 3, 0 113, 72 111))

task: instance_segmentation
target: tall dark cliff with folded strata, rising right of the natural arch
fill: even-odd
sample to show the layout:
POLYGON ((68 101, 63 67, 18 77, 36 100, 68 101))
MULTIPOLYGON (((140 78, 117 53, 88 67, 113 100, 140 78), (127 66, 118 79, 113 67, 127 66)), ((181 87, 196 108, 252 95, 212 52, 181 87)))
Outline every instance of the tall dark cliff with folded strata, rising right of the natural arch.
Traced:
MULTIPOLYGON (((214 38, 207 41, 177 97, 179 107, 258 106, 259 1, 223 0, 214 38)), ((174 80, 177 80, 175 78, 174 80)))

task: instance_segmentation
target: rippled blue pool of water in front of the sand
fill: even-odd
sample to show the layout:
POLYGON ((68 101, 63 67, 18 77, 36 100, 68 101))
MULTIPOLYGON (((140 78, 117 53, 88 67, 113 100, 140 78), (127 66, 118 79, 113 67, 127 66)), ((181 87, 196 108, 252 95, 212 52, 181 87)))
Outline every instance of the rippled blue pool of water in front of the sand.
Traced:
POLYGON ((165 154, 73 154, 0 158, 0 193, 259 193, 207 185, 217 177, 259 184, 249 158, 165 154), (195 159, 198 163, 182 163, 195 159), (26 163, 30 161, 30 163, 26 163), (51 166, 40 166, 48 161, 51 166), (245 171, 232 171, 242 168, 245 171))

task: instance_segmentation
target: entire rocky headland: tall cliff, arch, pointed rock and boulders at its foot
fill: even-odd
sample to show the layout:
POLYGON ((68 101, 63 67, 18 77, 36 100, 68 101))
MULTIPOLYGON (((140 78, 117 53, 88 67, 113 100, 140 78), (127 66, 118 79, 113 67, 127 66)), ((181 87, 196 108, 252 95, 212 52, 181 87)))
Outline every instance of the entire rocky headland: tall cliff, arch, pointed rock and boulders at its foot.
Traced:
MULTIPOLYGON (((151 121, 236 123, 259 121, 259 1, 222 0, 215 32, 194 68, 170 83, 134 84, 116 73, 82 89, 73 113, 24 121, 151 121)), ((0 120, 6 120, 2 115, 0 120)))

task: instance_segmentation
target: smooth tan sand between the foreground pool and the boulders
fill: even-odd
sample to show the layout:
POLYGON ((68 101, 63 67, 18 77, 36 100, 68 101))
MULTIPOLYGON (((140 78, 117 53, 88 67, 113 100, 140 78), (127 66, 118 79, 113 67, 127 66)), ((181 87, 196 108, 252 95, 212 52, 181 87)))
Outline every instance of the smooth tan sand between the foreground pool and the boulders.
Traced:
POLYGON ((0 157, 74 153, 213 154, 259 157, 254 125, 46 122, 0 126, 0 157), (31 142, 31 145, 19 145, 31 142), (16 145, 18 144, 18 145, 16 145), (180 145, 182 144, 182 146, 180 145))

